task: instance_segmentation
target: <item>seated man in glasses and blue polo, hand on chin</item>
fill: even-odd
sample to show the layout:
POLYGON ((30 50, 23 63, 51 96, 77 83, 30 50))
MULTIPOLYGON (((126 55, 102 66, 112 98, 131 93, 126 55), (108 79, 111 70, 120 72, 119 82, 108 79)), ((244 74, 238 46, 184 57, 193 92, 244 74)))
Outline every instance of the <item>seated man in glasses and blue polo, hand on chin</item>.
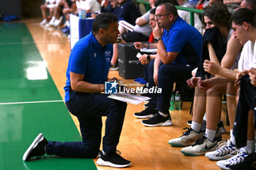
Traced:
POLYGON ((155 85, 162 93, 151 93, 148 107, 135 117, 149 118, 143 125, 172 125, 170 96, 173 82, 185 84, 198 66, 203 36, 178 16, 173 4, 160 4, 156 9, 157 26, 153 34, 157 40, 157 58, 149 63, 149 88, 155 85), (157 109, 155 109, 157 108, 157 109))

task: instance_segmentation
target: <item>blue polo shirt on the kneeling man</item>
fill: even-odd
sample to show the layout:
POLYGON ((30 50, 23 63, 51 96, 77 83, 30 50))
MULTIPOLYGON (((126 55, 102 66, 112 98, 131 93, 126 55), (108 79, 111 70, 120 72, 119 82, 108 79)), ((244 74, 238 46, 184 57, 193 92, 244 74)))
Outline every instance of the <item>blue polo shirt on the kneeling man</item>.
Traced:
POLYGON ((65 102, 69 101, 69 90, 71 90, 70 72, 83 74, 85 82, 104 84, 108 77, 112 55, 113 45, 102 47, 92 32, 80 39, 69 55, 67 81, 64 87, 65 102))

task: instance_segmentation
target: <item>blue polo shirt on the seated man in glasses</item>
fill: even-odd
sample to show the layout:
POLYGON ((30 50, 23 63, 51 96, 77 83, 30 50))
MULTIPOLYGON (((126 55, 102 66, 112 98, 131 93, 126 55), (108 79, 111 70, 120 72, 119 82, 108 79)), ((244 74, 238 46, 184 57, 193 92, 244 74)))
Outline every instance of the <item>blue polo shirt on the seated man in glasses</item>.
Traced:
POLYGON ((174 20, 170 30, 164 30, 162 41, 167 52, 178 52, 173 63, 188 63, 197 66, 201 57, 203 36, 182 18, 174 20))

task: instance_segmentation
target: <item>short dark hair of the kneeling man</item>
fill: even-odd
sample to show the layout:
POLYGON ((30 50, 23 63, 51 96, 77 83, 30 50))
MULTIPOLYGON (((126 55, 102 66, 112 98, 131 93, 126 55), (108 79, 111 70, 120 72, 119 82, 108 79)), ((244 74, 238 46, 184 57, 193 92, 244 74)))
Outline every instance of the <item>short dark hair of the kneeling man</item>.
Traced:
POLYGON ((108 29, 110 23, 115 22, 118 22, 116 15, 111 13, 101 13, 94 19, 94 23, 92 24, 92 31, 97 33, 100 28, 108 29))

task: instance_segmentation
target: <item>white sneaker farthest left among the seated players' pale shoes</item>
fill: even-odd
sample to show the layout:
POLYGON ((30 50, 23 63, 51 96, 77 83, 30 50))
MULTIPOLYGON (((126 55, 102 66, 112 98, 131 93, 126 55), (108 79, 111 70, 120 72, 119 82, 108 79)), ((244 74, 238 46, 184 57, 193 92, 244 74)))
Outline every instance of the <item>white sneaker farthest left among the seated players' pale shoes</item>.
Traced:
POLYGON ((196 133, 192 128, 184 128, 183 130, 186 130, 183 132, 182 136, 179 136, 176 139, 170 139, 169 144, 172 145, 172 147, 187 147, 191 144, 195 143, 197 139, 199 139, 201 136, 203 136, 203 133, 196 133))

